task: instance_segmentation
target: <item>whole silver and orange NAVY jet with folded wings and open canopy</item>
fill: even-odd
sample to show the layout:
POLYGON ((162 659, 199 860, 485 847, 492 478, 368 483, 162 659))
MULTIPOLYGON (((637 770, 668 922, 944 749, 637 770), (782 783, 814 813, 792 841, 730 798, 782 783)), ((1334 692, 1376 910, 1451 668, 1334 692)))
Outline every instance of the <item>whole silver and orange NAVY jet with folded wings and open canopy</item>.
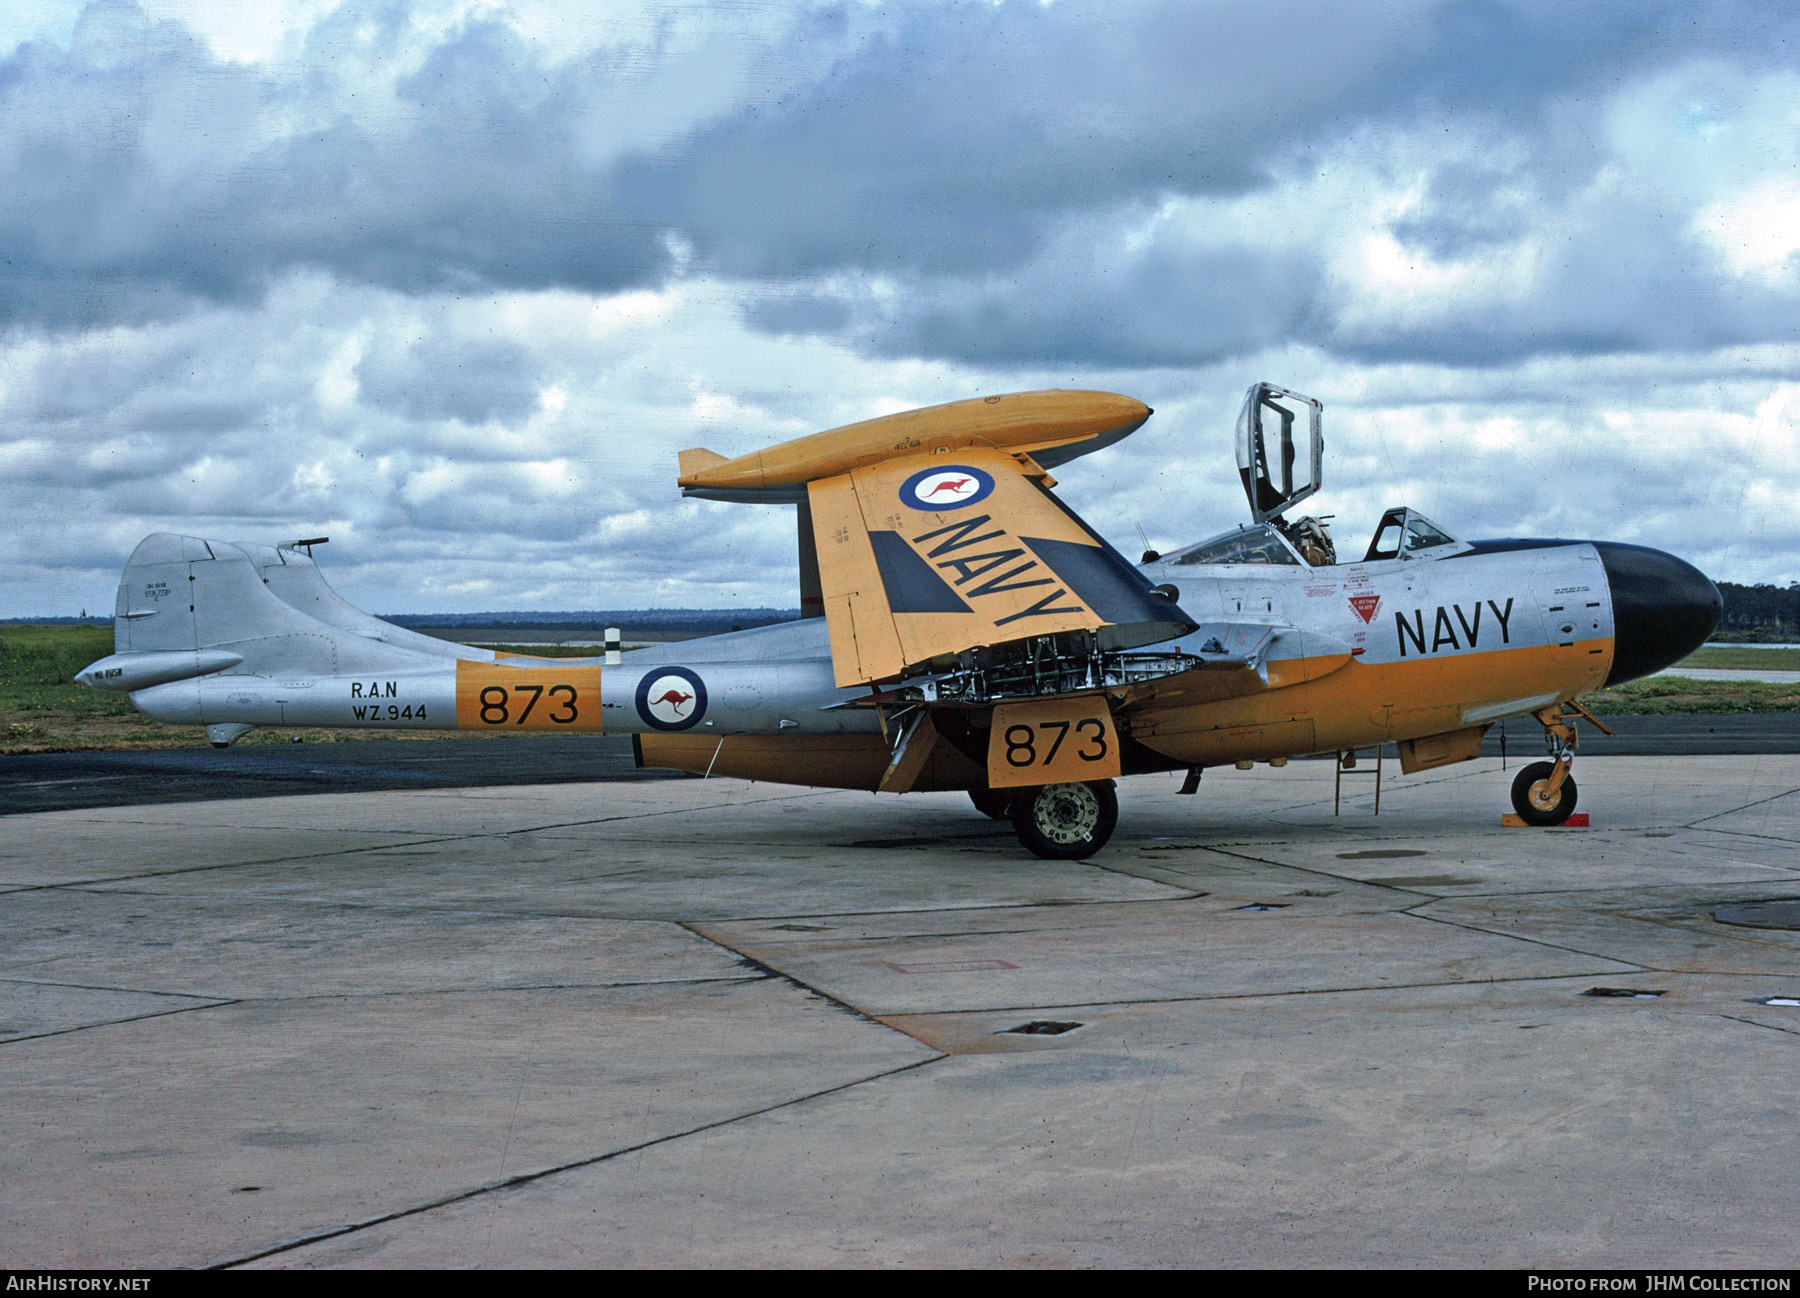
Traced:
POLYGON ((306 542, 158 533, 126 563, 115 652, 76 679, 220 747, 256 726, 608 733, 644 767, 967 790, 1053 859, 1105 844, 1120 776, 1186 771, 1193 792, 1210 765, 1381 744, 1426 771, 1534 717, 1550 760, 1512 803, 1561 825, 1575 699, 1690 654, 1719 590, 1656 549, 1467 542, 1408 508, 1339 558, 1321 520, 1287 518, 1319 490, 1319 412, 1253 385, 1251 522, 1136 565, 1051 491, 1051 470, 1150 418, 1129 396, 985 396, 682 452, 688 497, 797 506, 803 617, 628 657, 452 644, 340 599, 306 542))

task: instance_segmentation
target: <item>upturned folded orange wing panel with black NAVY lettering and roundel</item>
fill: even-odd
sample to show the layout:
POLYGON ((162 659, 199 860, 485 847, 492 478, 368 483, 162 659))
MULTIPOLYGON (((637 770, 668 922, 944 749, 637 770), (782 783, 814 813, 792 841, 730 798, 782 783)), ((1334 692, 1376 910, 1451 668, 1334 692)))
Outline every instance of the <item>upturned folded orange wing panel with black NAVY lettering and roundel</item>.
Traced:
POLYGON ((1033 635, 1132 648, 1195 625, 1030 468, 967 448, 808 484, 837 684, 1033 635))

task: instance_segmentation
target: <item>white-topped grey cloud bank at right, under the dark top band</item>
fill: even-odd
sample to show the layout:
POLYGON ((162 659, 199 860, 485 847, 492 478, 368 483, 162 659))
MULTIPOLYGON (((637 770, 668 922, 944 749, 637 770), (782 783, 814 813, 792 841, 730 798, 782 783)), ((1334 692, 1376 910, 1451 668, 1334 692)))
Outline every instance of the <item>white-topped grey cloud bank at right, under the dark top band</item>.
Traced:
POLYGON ((835 274, 747 319, 981 364, 1204 365, 1294 340, 1494 365, 1793 340, 1800 79, 1687 63, 1654 81, 1598 104, 1579 169, 1492 124, 1363 131, 1246 194, 1064 216, 1017 266, 835 274))

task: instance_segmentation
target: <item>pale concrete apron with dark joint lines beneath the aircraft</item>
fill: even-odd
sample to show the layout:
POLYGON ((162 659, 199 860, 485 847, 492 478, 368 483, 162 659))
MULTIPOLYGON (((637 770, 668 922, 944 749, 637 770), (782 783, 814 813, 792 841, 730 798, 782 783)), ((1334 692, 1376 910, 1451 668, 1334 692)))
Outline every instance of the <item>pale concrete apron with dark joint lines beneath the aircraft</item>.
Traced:
POLYGON ((1795 1266, 1800 756, 1332 774, 5 817, 0 1264, 1795 1266))

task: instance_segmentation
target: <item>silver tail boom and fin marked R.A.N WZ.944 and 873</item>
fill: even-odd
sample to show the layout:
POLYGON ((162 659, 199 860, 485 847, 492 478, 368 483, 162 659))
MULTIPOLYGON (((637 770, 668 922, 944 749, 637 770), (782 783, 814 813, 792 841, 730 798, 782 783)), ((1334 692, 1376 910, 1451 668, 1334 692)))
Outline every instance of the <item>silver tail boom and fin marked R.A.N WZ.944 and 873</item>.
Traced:
POLYGON ((130 693, 155 720, 203 726, 220 745, 256 726, 850 735, 880 724, 835 706, 846 695, 823 635, 817 657, 799 661, 709 663, 697 644, 644 650, 614 668, 495 661, 371 617, 338 599, 310 560, 257 545, 151 536, 126 565, 115 612, 115 652, 76 681, 130 693))

